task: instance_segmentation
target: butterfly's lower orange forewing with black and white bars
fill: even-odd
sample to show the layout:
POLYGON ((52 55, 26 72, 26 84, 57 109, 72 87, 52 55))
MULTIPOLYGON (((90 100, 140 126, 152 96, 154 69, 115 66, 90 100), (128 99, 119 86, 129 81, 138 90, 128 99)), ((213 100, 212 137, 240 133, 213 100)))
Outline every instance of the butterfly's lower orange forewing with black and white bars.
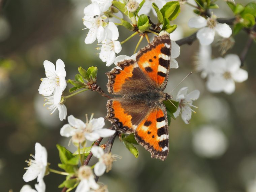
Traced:
POLYGON ((169 152, 166 108, 161 103, 138 124, 135 139, 151 153, 151 158, 164 161, 169 152))

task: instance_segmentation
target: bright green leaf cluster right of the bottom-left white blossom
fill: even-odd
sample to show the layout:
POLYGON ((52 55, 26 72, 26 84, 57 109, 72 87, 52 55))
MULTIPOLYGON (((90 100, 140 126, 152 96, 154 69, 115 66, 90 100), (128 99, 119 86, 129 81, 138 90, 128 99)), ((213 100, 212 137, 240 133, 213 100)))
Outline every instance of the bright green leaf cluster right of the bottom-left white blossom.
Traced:
POLYGON ((59 156, 61 164, 58 164, 58 166, 61 169, 64 169, 68 173, 74 173, 78 167, 79 163, 79 157, 74 156, 70 151, 68 151, 65 147, 56 145, 57 149, 59 150, 59 156))

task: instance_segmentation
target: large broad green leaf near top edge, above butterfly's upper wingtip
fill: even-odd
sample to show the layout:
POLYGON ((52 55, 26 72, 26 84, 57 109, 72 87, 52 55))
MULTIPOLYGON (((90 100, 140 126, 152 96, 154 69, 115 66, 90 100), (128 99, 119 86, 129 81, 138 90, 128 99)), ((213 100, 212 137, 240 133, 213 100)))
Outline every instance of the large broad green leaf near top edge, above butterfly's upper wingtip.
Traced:
POLYGON ((168 18, 168 20, 172 21, 177 18, 179 13, 181 12, 179 1, 170 1, 167 2, 163 8, 161 8, 161 13, 163 17, 168 18))

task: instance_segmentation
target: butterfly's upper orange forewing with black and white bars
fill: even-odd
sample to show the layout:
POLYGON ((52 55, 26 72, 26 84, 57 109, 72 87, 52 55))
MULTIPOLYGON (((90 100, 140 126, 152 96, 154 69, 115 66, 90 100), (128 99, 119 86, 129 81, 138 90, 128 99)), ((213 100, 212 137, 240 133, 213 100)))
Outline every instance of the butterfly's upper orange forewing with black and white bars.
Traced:
POLYGON ((171 40, 168 34, 156 36, 146 47, 139 50, 136 61, 157 88, 163 91, 168 81, 171 40))

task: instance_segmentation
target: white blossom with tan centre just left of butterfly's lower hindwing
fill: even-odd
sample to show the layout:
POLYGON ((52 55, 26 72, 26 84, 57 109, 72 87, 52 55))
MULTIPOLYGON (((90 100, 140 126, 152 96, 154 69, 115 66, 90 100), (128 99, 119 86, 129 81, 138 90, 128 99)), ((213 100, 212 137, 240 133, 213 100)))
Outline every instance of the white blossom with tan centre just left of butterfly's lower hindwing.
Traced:
POLYGON ((70 137, 74 142, 83 142, 85 139, 94 141, 100 137, 109 137, 116 131, 102 128, 105 125, 104 118, 90 119, 86 124, 80 119, 68 116, 68 123, 60 130, 61 136, 70 137))

